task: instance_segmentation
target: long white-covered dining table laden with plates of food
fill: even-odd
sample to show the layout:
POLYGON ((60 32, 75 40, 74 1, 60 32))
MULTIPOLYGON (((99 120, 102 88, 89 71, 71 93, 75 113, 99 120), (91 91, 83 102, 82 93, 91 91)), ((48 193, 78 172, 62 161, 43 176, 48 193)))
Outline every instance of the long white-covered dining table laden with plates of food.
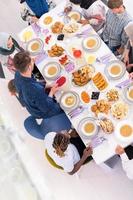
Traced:
MULTIPOLYGON (((108 48, 108 46, 104 43, 104 41, 100 38, 98 33, 95 32, 93 27, 90 24, 81 25, 73 20, 70 20, 64 13, 65 1, 56 6, 53 10, 44 14, 36 24, 31 24, 27 28, 23 29, 19 34, 19 39, 23 44, 23 47, 26 50, 29 50, 31 47, 31 41, 38 40, 41 41, 42 45, 41 51, 36 54, 31 52, 31 56, 35 58, 35 63, 46 79, 48 85, 54 85, 57 83, 57 80, 60 77, 65 77, 66 82, 59 88, 59 91, 56 93, 56 99, 64 109, 66 115, 70 119, 72 126, 77 130, 77 133, 81 137, 85 146, 92 145, 93 154, 92 157, 96 164, 102 165, 105 164, 106 161, 111 159, 116 155, 115 148, 117 145, 121 145, 122 147, 127 147, 131 143, 133 143, 133 134, 130 139, 121 137, 118 132, 120 131, 120 125, 127 122, 133 122, 133 101, 128 101, 125 96, 125 91, 127 91, 128 86, 132 84, 132 81, 128 78, 128 73, 125 70, 124 66, 122 75, 118 78, 111 77, 108 68, 110 63, 118 62, 121 64, 121 61, 118 57, 116 57, 108 48), (52 24, 45 24, 44 21, 47 17, 50 16, 52 19, 52 24), (63 34, 61 40, 58 39, 59 33, 53 33, 52 25, 56 22, 60 22, 64 26, 67 26, 71 23, 78 24, 78 30, 75 33, 63 34), (24 34, 30 32, 32 34, 30 37, 23 37, 24 34), (95 38, 97 41, 97 45, 95 49, 88 49, 86 47, 85 41, 88 37, 95 38), (63 48, 63 53, 57 56, 51 56, 49 53, 51 48, 54 46, 60 46, 63 48), (73 50, 79 50, 81 56, 75 56, 73 50), (64 65, 61 62, 62 57, 66 57, 68 59, 69 65, 64 65), (92 60, 89 60, 89 57, 92 60), (46 68, 49 63, 56 63, 59 66, 59 73, 55 79, 50 79, 46 77, 46 68), (79 86, 76 85, 73 81, 74 72, 78 72, 81 70, 83 66, 89 65, 93 71, 93 77, 100 73, 102 77, 107 82, 107 87, 103 90, 100 90, 96 87, 94 83, 94 79, 92 77, 85 85, 79 86), (107 99, 107 93, 110 90, 116 90, 119 94, 119 100, 109 102, 107 99), (69 93, 76 96, 77 102, 74 108, 70 109, 69 107, 63 106, 63 96, 69 93), (82 99, 82 93, 85 92, 89 95, 89 102, 84 102, 82 99), (98 94, 99 97, 92 98, 92 93, 98 94), (105 100, 110 105, 110 110, 108 113, 99 112, 98 115, 92 111, 92 106, 96 105, 96 102, 99 100, 105 100), (111 109, 114 104, 123 103, 127 106, 127 113, 121 119, 117 119, 113 116, 111 109), (76 114, 72 114, 76 109, 78 112, 76 114), (94 137, 89 137, 87 134, 83 134, 82 123, 87 118, 93 119, 96 122, 97 133, 94 137), (99 121, 103 118, 109 119, 113 123, 114 130, 112 133, 105 133, 103 129, 99 125, 99 121)), ((74 10, 75 12, 75 10, 74 10)), ((79 8, 78 8, 79 12, 79 8)), ((82 13, 80 13, 82 15, 82 13)), ((48 18, 47 18, 48 19, 48 18)), ((46 22, 46 21, 45 21, 46 22)), ((63 58, 62 58, 63 59, 63 58)), ((52 65, 51 64, 51 65, 52 65)), ((124 65, 124 64, 122 64, 124 65)), ((132 86, 133 87, 133 86, 132 86)), ((69 95, 68 95, 69 96, 69 95)), ((133 123, 132 123, 133 125, 133 123)))

